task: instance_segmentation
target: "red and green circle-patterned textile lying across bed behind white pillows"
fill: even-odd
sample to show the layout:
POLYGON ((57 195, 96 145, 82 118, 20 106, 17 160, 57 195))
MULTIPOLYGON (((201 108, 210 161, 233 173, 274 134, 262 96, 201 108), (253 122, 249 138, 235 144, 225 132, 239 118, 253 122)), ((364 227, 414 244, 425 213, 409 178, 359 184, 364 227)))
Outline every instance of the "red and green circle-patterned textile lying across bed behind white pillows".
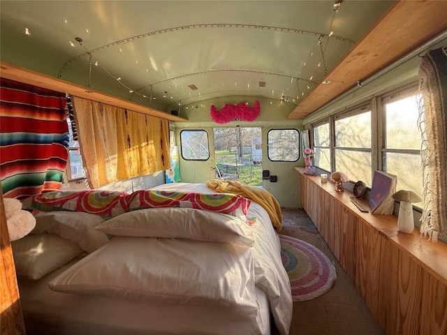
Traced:
POLYGON ((184 207, 245 216, 251 200, 230 193, 195 193, 170 191, 56 191, 25 200, 24 208, 40 211, 84 211, 111 218, 126 211, 157 207, 184 207))

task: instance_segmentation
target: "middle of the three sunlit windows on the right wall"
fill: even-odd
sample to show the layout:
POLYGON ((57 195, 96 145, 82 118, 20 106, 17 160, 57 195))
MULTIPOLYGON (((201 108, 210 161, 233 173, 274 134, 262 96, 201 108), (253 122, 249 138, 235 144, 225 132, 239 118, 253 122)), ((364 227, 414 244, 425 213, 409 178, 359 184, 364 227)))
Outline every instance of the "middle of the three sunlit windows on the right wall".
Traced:
POLYGON ((365 108, 335 118, 335 171, 372 185, 371 111, 365 108))

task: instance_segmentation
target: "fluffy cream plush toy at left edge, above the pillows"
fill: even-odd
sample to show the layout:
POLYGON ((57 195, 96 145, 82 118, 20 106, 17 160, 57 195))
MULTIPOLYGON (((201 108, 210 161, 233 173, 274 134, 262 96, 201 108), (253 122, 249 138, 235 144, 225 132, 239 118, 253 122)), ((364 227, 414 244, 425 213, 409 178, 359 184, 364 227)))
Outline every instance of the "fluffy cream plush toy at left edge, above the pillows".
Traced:
POLYGON ((36 225, 36 218, 22 209, 22 202, 14 198, 3 198, 9 239, 15 241, 29 234, 36 225))

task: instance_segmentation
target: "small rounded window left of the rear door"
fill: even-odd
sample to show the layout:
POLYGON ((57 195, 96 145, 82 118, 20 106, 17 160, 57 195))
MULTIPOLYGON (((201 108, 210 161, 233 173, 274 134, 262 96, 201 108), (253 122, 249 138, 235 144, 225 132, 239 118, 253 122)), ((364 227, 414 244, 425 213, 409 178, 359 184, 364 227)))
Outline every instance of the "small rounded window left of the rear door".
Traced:
POLYGON ((189 161, 207 161, 210 158, 208 133, 202 130, 180 132, 182 157, 189 161))

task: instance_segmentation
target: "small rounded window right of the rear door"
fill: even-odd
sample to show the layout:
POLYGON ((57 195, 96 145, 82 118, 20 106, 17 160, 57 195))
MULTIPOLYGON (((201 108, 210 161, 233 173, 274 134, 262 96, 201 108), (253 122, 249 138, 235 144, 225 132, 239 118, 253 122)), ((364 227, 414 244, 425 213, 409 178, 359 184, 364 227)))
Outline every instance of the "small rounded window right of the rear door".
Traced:
POLYGON ((270 161, 296 162, 300 159, 300 132, 296 129, 272 129, 267 141, 270 161))

